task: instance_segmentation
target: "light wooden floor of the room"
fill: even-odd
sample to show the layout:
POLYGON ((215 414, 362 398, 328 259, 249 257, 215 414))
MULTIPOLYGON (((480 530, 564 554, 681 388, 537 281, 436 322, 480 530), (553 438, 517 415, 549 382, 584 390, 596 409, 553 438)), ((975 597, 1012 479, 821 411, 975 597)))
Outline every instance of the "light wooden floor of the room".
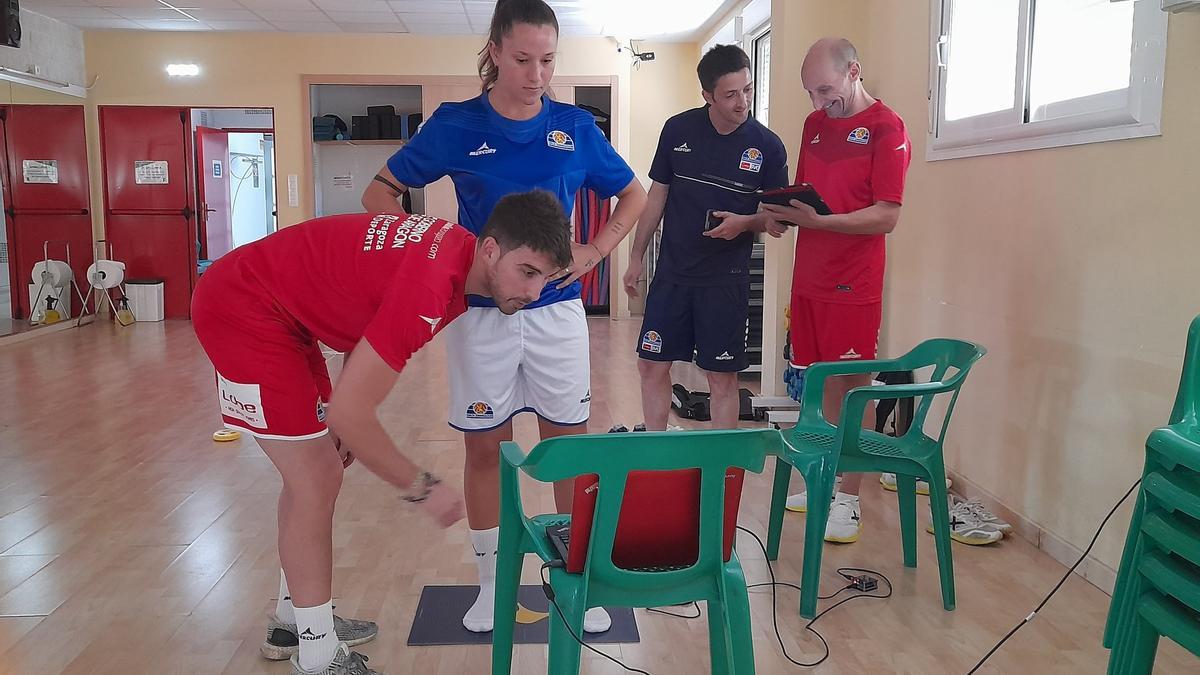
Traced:
MULTIPOLYGON (((594 431, 641 420, 636 322, 592 319, 594 431)), ((191 325, 95 324, 0 348, 0 674, 286 674, 258 656, 274 608, 278 478, 253 441, 216 444, 212 375, 191 325)), ((440 346, 419 354, 389 399, 385 424, 406 452, 461 485, 462 438, 444 423, 440 346)), ((528 442, 533 425, 518 425, 528 442)), ((968 472, 967 472, 968 473, 968 472)), ((548 489, 530 513, 551 510, 548 489)), ((748 477, 742 524, 763 533, 769 484, 748 477)), ((1024 540, 955 544, 959 608, 942 610, 929 536, 919 568, 905 569, 895 500, 874 483, 863 495, 859 543, 830 546, 824 592, 838 566, 878 569, 887 601, 857 599, 823 617, 829 659, 815 673, 966 673, 1027 615, 1064 568, 1024 540)), ((925 506, 922 504, 924 510, 925 506)), ((1097 519, 1103 514, 1096 514, 1097 519)), ((922 513, 928 521, 928 513, 922 513)), ((803 516, 790 514, 775 574, 798 583, 803 516)), ((407 647, 426 584, 470 583, 466 524, 438 531, 355 466, 335 528, 338 613, 373 619, 361 647, 384 673, 486 673, 490 647, 407 647)), ((750 583, 767 580, 762 554, 739 536, 750 583)), ((528 580, 535 578, 527 568, 528 580)), ((793 657, 821 653, 802 632, 796 592, 779 597, 793 657)), ((798 670, 780 653, 768 589, 751 591, 758 673, 798 670)), ((828 602, 822 603, 822 607, 828 602)), ((1108 597, 1081 579, 992 657, 986 673, 1103 673, 1099 638, 1108 597)), ((642 641, 605 651, 655 675, 708 670, 704 619, 637 611, 642 641)), ((545 671, 545 647, 517 649, 517 673, 545 671)), ((1175 645, 1160 673, 1195 673, 1175 645)), ((584 652, 584 673, 620 668, 584 652)))

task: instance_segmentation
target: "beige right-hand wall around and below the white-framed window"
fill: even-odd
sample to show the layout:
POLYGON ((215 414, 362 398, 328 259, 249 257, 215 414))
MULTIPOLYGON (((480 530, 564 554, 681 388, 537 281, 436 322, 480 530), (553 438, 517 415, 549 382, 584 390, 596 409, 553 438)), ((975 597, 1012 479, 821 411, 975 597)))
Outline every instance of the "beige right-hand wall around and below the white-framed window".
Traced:
MULTIPOLYGON (((1069 556, 1062 542, 1086 546, 1140 476, 1200 311, 1200 16, 1170 19, 1162 137, 926 162, 929 4, 866 0, 857 25, 793 23, 798 5, 775 1, 786 20, 773 32, 772 126, 796 147, 810 109, 796 74, 815 32, 856 40, 869 89, 905 118, 914 150, 888 241, 883 352, 935 335, 990 350, 964 389, 948 464, 1069 556), (785 123, 786 109, 797 113, 785 123)), ((1109 567, 1128 513, 1094 551, 1109 567)))

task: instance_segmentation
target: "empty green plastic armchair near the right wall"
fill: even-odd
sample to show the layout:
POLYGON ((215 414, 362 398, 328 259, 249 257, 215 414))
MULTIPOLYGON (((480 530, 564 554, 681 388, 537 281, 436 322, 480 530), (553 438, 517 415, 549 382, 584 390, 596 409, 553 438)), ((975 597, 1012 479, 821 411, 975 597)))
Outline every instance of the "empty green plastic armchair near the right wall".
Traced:
POLYGON ((954 567, 950 558, 950 521, 947 508, 946 466, 942 441, 958 401, 959 390, 971 366, 988 351, 973 342, 950 339, 926 340, 907 354, 892 360, 817 363, 804 374, 800 414, 792 429, 784 455, 775 460, 775 486, 767 531, 767 557, 779 557, 787 486, 796 467, 808 489, 808 516, 804 522, 804 563, 800 580, 800 616, 816 616, 821 554, 826 521, 833 498, 834 478, 841 472, 886 471, 896 474, 900 501, 900 530, 906 567, 917 566, 917 478, 929 483, 929 504, 934 516, 934 539, 942 578, 942 604, 954 609, 954 567), (932 368, 929 382, 859 387, 846 394, 838 426, 826 422, 822 411, 824 382, 839 375, 890 370, 920 371, 932 368), (953 372, 952 372, 953 371, 953 372), (948 396, 946 417, 937 437, 925 434, 925 418, 938 395, 948 396), (865 430, 859 420, 868 402, 884 399, 919 398, 913 420, 900 437, 865 430), (850 422, 854 420, 854 422, 850 422))

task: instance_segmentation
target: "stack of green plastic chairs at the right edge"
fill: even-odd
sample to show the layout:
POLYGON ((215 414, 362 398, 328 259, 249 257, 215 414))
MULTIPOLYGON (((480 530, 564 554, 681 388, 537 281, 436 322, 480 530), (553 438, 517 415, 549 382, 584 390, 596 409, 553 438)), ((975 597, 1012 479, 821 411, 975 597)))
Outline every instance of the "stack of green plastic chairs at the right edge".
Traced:
POLYGON ((1146 440, 1104 646, 1110 674, 1150 673, 1160 637, 1200 656, 1200 317, 1166 426, 1146 440))

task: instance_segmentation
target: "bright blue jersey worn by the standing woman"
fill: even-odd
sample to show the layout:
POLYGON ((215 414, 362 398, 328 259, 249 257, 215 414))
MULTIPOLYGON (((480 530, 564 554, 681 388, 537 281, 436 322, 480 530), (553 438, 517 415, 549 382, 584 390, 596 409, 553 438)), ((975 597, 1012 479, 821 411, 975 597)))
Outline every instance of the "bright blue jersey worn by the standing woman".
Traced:
MULTIPOLYGON (((476 235, 505 195, 541 187, 553 192, 570 216, 580 187, 607 199, 634 180, 632 169, 600 132, 592 113, 546 96, 541 112, 521 121, 497 113, 487 95, 443 103, 420 133, 388 160, 388 169, 412 187, 449 175, 458 198, 458 223, 476 235)), ((546 286, 527 307, 580 297, 578 281, 563 289, 556 286, 546 286)), ((470 304, 496 306, 474 295, 470 304)))

